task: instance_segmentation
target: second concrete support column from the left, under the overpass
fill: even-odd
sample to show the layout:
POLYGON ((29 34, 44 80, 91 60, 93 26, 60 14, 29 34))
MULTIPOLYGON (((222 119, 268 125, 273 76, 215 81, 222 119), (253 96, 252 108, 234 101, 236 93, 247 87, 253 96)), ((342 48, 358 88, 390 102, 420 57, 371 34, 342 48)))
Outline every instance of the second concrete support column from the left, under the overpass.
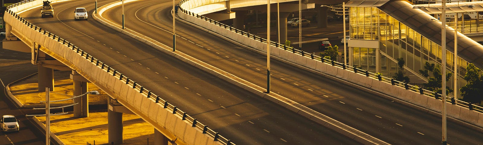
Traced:
MULTIPOLYGON (((82 81, 84 78, 82 77, 79 73, 76 73, 75 71, 72 71, 71 73, 71 79, 73 82, 73 88, 74 88, 74 96, 79 96, 87 92, 87 82, 82 81)), ((82 97, 78 97, 74 99, 74 103, 79 103, 77 105, 74 105, 74 117, 88 117, 89 116, 89 95, 86 94, 82 97)))

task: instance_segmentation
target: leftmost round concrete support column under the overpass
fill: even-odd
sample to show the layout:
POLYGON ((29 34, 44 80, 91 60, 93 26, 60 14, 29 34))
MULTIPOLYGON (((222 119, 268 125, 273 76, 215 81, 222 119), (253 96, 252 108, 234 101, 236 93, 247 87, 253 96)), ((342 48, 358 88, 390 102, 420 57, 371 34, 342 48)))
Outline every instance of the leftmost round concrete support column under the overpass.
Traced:
POLYGON ((54 91, 54 69, 38 66, 38 90, 45 92, 45 87, 50 88, 50 91, 54 91))

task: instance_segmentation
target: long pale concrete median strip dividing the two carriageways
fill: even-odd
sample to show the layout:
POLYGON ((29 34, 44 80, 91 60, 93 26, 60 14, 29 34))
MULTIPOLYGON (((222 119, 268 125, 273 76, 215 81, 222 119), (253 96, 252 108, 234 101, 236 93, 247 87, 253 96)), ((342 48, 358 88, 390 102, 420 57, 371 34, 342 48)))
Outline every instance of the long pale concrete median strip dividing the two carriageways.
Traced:
MULTIPOLYGON (((136 0, 131 0, 131 1, 136 1, 136 0)), ((131 2, 129 1, 129 2, 131 2)), ((96 21, 99 21, 100 23, 104 24, 104 25, 107 25, 108 27, 110 28, 113 28, 113 29, 116 29, 119 31, 119 25, 117 24, 114 24, 113 22, 103 18, 101 16, 102 12, 107 10, 108 8, 112 8, 114 7, 115 5, 120 5, 121 3, 120 2, 117 2, 117 3, 111 3, 111 4, 108 4, 108 5, 104 5, 102 7, 100 7, 100 12, 98 14, 93 14, 93 18, 96 20, 96 21)), ((183 13, 180 13, 180 14, 183 14, 183 13)), ((204 28, 201 28, 197 25, 194 25, 190 22, 186 22, 182 19, 178 19, 180 21, 183 21, 184 23, 186 24, 189 24, 189 25, 192 25, 194 27, 198 27, 199 29, 204 29, 204 28)), ((204 29, 206 30, 207 32, 209 33, 212 33, 213 35, 219 35, 217 33, 214 33, 212 31, 210 31, 209 29, 204 29)), ((364 144, 364 145, 389 145, 388 143, 382 141, 382 140, 379 140, 373 136, 370 136, 369 134, 366 134, 362 131, 358 131, 352 127, 349 127, 333 118, 330 118, 328 116, 325 116, 321 113, 318 113, 304 105, 301 105, 297 102, 294 102, 290 99, 287 99, 283 96, 280 96, 278 94, 275 94, 275 93, 270 93, 270 94, 266 94, 264 93, 263 91, 265 90, 263 87, 259 87, 259 86, 256 86, 255 84, 252 84, 246 80, 243 80, 233 74, 230 74, 230 73, 227 73, 223 70, 220 70, 216 67, 213 67, 205 62, 202 62, 196 58, 193 58, 191 56, 188 56, 180 51, 175 51, 175 52, 172 52, 172 48, 170 48, 169 46, 166 46, 165 44, 162 44, 162 43, 159 43, 159 42, 156 42, 155 40, 151 39, 151 38, 148 38, 142 34, 139 34, 133 30, 130 30, 130 29, 121 29, 122 33, 125 33, 127 34, 128 36, 132 37, 132 38, 136 38, 138 40, 140 40, 141 42, 144 42, 148 45, 156 45, 154 46, 156 49, 164 52, 164 53, 167 53, 169 55, 173 55, 175 56, 176 58, 182 60, 182 61, 185 61, 186 63, 188 64, 191 64, 192 66, 195 66, 207 73, 211 73, 221 79, 224 79, 226 80, 227 82, 229 83, 232 83, 234 85, 237 85, 239 87, 242 87, 243 89, 246 89, 250 92, 253 92, 255 93, 256 95, 262 97, 262 98, 265 98, 271 102, 275 102, 285 108, 287 108, 288 110, 291 110, 301 116, 304 116, 310 120, 313 120, 314 122, 317 122, 321 125, 324 125, 326 126, 327 128, 329 129, 333 129, 334 131, 337 131, 343 135, 346 135, 348 137, 351 137, 352 139, 355 139, 356 141, 359 141, 360 143, 364 144)))

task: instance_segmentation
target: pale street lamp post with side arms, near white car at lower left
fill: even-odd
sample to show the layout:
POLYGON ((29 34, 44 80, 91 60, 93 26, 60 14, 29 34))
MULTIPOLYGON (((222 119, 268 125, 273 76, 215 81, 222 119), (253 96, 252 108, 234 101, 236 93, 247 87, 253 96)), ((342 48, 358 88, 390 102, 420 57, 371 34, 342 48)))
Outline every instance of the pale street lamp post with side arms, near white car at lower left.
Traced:
MULTIPOLYGON (((57 93, 57 94, 59 94, 59 93, 57 93)), ((51 108, 50 102, 61 102, 61 101, 72 100, 72 99, 82 97, 82 96, 87 95, 87 94, 97 95, 97 94, 99 94, 99 92, 98 91, 89 91, 89 92, 85 92, 82 95, 75 96, 75 97, 72 97, 72 98, 69 98, 69 99, 50 101, 50 88, 45 87, 45 101, 41 101, 41 103, 45 102, 45 108, 32 108, 33 110, 43 110, 43 109, 45 109, 45 115, 25 115, 26 117, 29 117, 29 116, 45 116, 45 145, 50 145, 50 116, 51 116, 50 109, 65 108, 65 107, 70 107, 70 106, 79 104, 79 103, 74 103, 74 104, 70 104, 70 105, 66 105, 66 106, 52 107, 51 108)), ((62 95, 66 95, 66 94, 62 94, 62 95)), ((65 114, 67 114, 67 112, 52 114, 52 116, 65 115, 65 114)))

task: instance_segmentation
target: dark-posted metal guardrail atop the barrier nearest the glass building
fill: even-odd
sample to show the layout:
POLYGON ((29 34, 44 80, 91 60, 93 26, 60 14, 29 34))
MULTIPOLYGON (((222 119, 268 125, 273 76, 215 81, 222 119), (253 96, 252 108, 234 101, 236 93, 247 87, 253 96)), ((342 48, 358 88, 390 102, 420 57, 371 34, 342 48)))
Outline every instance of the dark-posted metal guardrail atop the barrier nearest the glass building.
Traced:
MULTIPOLYGON (((221 22, 218 22, 218 21, 213 20, 211 18, 208 18, 206 16, 195 14, 195 13, 192 13, 192 12, 189 12, 189 11, 183 9, 183 7, 181 7, 181 5, 186 1, 188 1, 188 0, 181 0, 178 3, 178 6, 179 6, 178 8, 180 9, 181 12, 183 12, 185 14, 189 14, 191 16, 195 16, 195 17, 200 18, 200 19, 203 19, 207 22, 213 23, 214 25, 218 25, 220 27, 223 27, 223 28, 228 29, 230 31, 233 31, 235 33, 241 34, 242 36, 247 36, 248 38, 252 38, 256 41, 260 41, 260 43, 266 43, 267 42, 267 39, 261 38, 259 36, 254 35, 254 34, 250 34, 248 32, 240 30, 240 29, 236 29, 232 26, 228 26, 226 24, 223 24, 221 22)), ((316 55, 313 55, 313 54, 310 54, 310 53, 306 53, 303 50, 298 50, 298 49, 295 49, 295 48, 292 48, 292 47, 287 47, 286 45, 281 44, 281 43, 270 41, 270 45, 275 46, 275 47, 280 48, 280 49, 284 49, 285 51, 290 51, 294 54, 301 55, 303 57, 311 58, 311 59, 314 59, 314 60, 317 60, 317 61, 321 61, 323 63, 330 64, 334 67, 339 67, 339 68, 342 68, 342 69, 347 70, 347 71, 359 73, 359 74, 365 75, 367 77, 377 79, 379 81, 390 83, 393 86, 404 87, 405 89, 412 90, 414 92, 419 92, 422 95, 426 95, 428 97, 441 100, 441 94, 435 94, 434 92, 429 91, 427 89, 424 89, 423 87, 417 87, 417 86, 409 85, 409 83, 403 83, 403 82, 397 81, 395 79, 382 76, 381 74, 371 73, 367 70, 359 69, 359 68, 356 68, 356 67, 353 67, 353 66, 345 65, 345 64, 337 62, 337 61, 333 61, 333 60, 322 58, 320 56, 316 56, 316 55)), ((472 104, 472 103, 469 103, 469 102, 464 102, 464 101, 455 99, 454 97, 448 97, 448 96, 445 97, 445 100, 446 100, 446 102, 451 102, 454 105, 459 105, 459 106, 468 108, 469 110, 475 110, 475 111, 483 113, 483 107, 482 106, 478 106, 478 105, 475 105, 475 104, 472 104)))

